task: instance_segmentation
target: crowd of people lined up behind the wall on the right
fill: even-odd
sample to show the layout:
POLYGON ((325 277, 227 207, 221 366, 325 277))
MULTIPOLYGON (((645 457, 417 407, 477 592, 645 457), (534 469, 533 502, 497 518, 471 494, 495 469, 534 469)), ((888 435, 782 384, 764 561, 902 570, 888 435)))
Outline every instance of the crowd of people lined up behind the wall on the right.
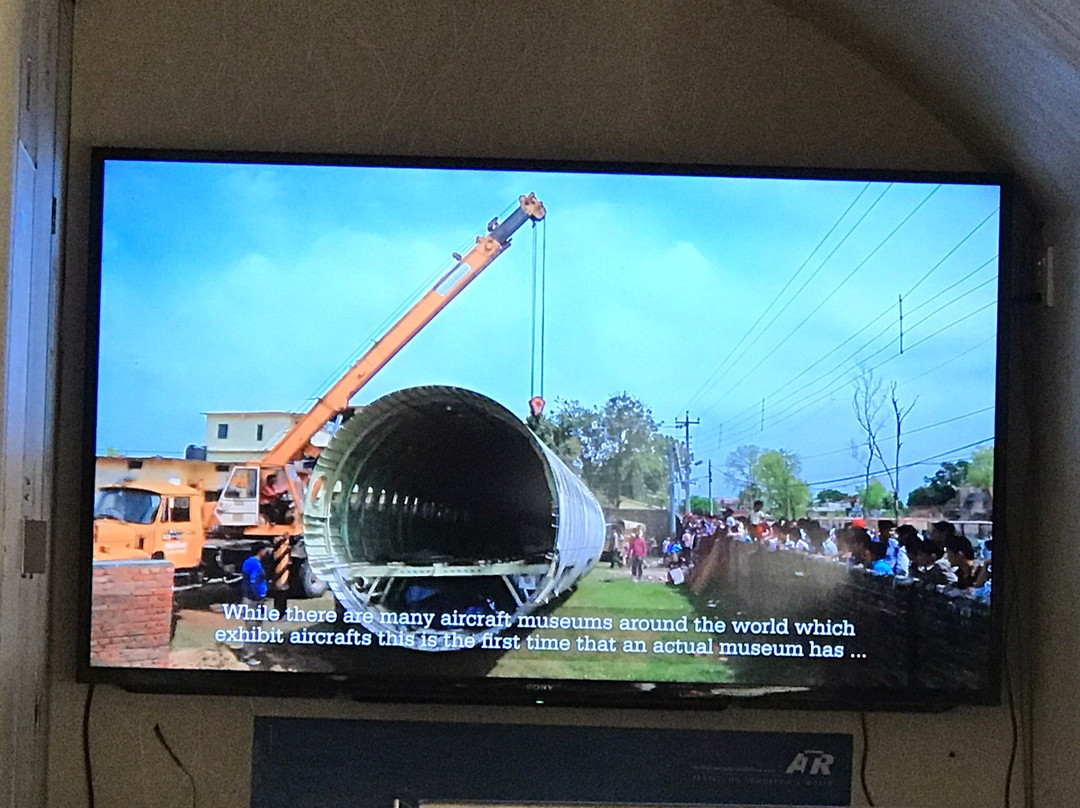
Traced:
MULTIPOLYGON (((677 536, 654 548, 673 583, 689 579, 716 541, 735 541, 820 556, 865 568, 870 575, 916 579, 978 600, 989 600, 990 595, 994 542, 982 526, 974 540, 944 520, 932 523, 924 531, 893 520, 868 523, 860 517, 841 527, 826 528, 811 519, 772 520, 760 501, 745 515, 737 516, 728 509, 717 516, 685 514, 680 522, 677 536)), ((639 558, 634 568, 634 577, 639 579, 639 558)))

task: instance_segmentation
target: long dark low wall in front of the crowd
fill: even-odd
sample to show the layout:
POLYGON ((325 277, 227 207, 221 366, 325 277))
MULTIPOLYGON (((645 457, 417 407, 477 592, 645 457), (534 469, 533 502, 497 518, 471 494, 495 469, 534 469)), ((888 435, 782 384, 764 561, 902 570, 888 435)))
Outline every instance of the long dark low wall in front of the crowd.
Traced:
MULTIPOLYGON (((875 576, 820 556, 729 541, 713 546, 689 588, 701 614, 728 620, 786 617, 793 622, 818 618, 854 623, 854 637, 809 637, 843 644, 847 664, 809 658, 739 660, 748 674, 757 671, 777 684, 807 684, 809 677, 832 686, 968 689, 986 683, 990 606, 956 591, 939 592, 912 579, 875 576), (851 654, 866 656, 852 659, 851 654)), ((788 637, 765 639, 807 637, 795 636, 793 630, 788 637)))

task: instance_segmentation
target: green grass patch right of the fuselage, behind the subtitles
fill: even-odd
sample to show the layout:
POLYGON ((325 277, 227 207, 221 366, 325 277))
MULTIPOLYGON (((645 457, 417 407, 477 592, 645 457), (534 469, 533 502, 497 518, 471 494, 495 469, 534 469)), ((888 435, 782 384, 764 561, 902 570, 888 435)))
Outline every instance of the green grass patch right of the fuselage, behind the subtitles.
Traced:
MULTIPOLYGON (((551 612, 557 617, 610 617, 613 629, 604 632, 537 630, 535 637, 566 637, 568 651, 536 651, 522 648, 507 651, 491 671, 492 676, 525 676, 537 678, 592 678, 626 682, 730 682, 731 671, 715 655, 657 654, 657 639, 705 641, 707 635, 693 632, 693 608, 684 591, 660 581, 634 582, 622 570, 593 569, 576 592, 551 612), (620 631, 622 618, 669 618, 686 616, 690 631, 653 632, 620 631), (577 637, 588 634, 594 639, 613 638, 619 650, 579 651, 577 637), (624 652, 624 641, 643 641, 644 654, 624 652)), ((715 647, 715 641, 714 641, 715 647)))

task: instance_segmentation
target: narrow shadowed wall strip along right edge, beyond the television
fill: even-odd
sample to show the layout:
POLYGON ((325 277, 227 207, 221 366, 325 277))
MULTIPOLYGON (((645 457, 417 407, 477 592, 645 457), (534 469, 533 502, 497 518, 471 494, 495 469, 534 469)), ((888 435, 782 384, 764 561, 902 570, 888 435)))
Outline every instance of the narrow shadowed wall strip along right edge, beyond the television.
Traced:
POLYGON ((1032 562, 1028 593, 1031 620, 1028 652, 1032 663, 1032 789, 1035 805, 1069 805, 1080 790, 1071 751, 1080 749, 1080 633, 1075 623, 1076 576, 1080 569, 1080 215, 1062 214, 1048 223, 1054 245, 1053 308, 1039 308, 1035 336, 1021 363, 1024 403, 1031 414, 1034 461, 1028 470, 1034 495, 1030 543, 1016 549, 1032 562))

